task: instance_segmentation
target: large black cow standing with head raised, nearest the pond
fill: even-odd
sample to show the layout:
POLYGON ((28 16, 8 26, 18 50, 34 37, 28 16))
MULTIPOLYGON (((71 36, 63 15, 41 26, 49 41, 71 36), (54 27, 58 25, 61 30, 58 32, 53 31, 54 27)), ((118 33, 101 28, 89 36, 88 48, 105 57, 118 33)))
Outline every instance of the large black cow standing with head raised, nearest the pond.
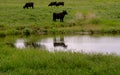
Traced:
POLYGON ((63 12, 60 13, 53 13, 53 21, 56 21, 56 19, 60 19, 60 22, 63 22, 64 16, 67 14, 67 11, 63 10, 63 12))

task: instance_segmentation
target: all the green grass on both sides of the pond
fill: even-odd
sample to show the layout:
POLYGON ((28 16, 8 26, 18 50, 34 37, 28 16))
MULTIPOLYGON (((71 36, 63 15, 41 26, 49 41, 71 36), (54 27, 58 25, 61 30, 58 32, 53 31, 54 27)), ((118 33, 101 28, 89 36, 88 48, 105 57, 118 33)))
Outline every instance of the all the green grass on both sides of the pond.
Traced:
MULTIPOLYGON (((0 0, 0 36, 120 33, 119 0, 57 0, 65 6, 48 7, 51 1, 0 0), (23 9, 29 1, 35 8, 23 9), (53 22, 52 13, 62 10, 68 11, 64 22, 53 22)), ((19 50, 5 42, 0 42, 0 75, 120 75, 120 57, 116 55, 19 50)))

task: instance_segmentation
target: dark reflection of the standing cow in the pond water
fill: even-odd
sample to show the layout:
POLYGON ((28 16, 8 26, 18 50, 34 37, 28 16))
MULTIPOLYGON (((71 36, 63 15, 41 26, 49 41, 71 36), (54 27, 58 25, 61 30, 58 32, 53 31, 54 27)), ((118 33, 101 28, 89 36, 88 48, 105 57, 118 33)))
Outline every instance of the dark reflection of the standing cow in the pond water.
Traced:
POLYGON ((64 42, 64 37, 60 37, 60 38, 54 38, 54 47, 64 47, 67 48, 67 45, 64 42))

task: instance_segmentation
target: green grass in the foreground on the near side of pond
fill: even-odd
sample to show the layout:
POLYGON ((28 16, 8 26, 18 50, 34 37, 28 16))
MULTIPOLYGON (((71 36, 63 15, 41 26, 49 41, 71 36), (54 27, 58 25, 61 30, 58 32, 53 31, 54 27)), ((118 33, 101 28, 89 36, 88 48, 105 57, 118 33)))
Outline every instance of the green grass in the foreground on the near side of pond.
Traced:
POLYGON ((0 49, 0 75, 119 75, 115 55, 0 49))

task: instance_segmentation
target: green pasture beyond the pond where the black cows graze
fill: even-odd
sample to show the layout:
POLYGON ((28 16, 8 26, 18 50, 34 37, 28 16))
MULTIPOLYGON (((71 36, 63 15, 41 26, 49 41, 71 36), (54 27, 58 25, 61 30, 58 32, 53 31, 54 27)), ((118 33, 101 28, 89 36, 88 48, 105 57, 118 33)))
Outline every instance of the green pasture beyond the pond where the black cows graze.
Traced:
MULTIPOLYGON (((62 0, 65 6, 48 7, 52 0, 1 0, 0 34, 120 32, 119 0, 62 0), (26 2, 34 9, 23 9, 26 2), (53 12, 66 10, 64 22, 52 21, 53 12)), ((61 1, 61 0, 58 0, 61 1)))

